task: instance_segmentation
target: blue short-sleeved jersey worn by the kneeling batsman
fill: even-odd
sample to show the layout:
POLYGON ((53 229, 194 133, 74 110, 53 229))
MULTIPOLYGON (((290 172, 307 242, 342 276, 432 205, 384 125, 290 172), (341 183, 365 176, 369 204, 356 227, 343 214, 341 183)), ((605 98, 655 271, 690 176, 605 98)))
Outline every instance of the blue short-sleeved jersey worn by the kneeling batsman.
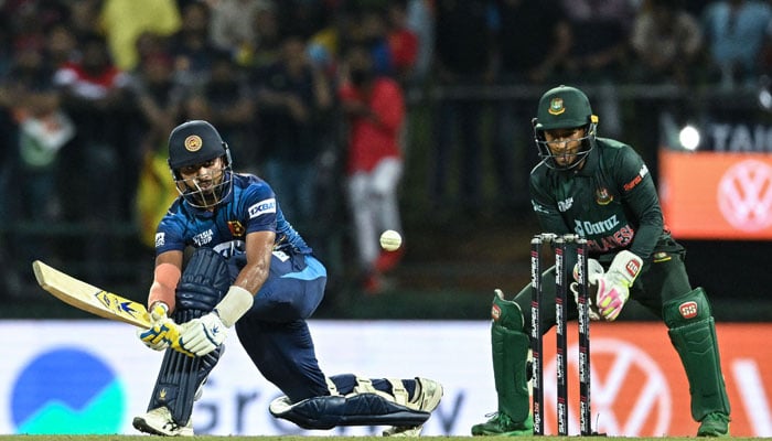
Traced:
POLYGON ((191 206, 178 197, 156 232, 156 254, 182 251, 187 246, 208 247, 226 258, 245 252, 246 235, 276 233, 276 250, 311 254, 290 225, 270 185, 251 174, 229 173, 233 190, 213 212, 191 206))

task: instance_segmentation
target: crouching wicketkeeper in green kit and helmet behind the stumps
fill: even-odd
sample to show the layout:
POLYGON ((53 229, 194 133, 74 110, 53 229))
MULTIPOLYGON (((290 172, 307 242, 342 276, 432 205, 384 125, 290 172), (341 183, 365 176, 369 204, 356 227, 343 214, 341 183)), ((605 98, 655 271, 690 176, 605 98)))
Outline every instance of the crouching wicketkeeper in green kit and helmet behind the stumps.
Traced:
MULTIPOLYGON (((634 299, 663 320, 689 383, 697 435, 729 435, 730 406, 710 303, 705 290, 689 282, 685 249, 664 226, 646 164, 632 147, 597 137, 598 117, 578 88, 547 90, 532 122, 542 158, 530 172, 533 209, 542 232, 587 239, 588 279, 591 291, 597 289, 591 318, 614 321, 634 299)), ((566 268, 575 263, 576 252, 568 252, 566 268)), ((542 277, 544 304, 554 305, 555 267, 542 277)), ((545 334, 555 325, 555 308, 543 308, 540 314, 545 334)), ((472 427, 472 434, 532 434, 526 372, 530 286, 514 300, 495 290, 492 316, 498 407, 491 419, 472 427)), ((570 302, 567 318, 577 316, 570 302)))

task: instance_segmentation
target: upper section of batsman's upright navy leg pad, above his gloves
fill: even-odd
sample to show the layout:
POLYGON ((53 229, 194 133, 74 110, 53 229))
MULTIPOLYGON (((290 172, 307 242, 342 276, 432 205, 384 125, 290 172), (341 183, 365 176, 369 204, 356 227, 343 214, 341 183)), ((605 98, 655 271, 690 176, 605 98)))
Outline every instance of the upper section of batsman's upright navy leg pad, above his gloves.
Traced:
POLYGON ((176 287, 176 308, 210 312, 228 288, 230 276, 227 260, 212 248, 199 248, 185 266, 176 287))

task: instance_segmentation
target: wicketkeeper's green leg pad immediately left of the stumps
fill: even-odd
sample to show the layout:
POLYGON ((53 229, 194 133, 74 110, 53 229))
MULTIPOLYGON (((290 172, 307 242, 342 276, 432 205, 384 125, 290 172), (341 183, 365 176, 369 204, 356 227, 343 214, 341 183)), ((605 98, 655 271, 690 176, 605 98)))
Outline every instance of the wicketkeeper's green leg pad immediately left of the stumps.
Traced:
POLYGON ((495 295, 492 308, 491 352, 498 412, 513 421, 525 421, 530 411, 526 368, 530 340, 523 332, 523 313, 517 303, 495 295))

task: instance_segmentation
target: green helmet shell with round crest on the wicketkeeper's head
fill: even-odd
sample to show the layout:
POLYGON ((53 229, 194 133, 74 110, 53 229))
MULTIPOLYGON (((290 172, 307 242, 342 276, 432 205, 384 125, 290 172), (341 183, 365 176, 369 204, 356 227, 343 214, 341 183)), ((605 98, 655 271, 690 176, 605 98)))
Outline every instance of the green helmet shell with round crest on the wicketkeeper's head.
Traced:
POLYGON ((539 99, 534 129, 572 129, 592 122, 590 100, 576 87, 558 86, 539 99))

